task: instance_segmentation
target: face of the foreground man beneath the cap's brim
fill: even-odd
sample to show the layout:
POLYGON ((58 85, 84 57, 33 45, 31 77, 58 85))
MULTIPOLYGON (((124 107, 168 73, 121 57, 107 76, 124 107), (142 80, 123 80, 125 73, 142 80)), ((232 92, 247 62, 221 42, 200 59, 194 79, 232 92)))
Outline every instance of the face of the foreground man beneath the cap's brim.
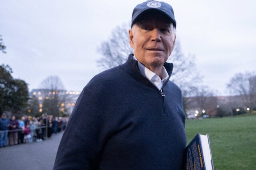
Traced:
POLYGON ((147 13, 129 30, 129 39, 140 63, 149 69, 162 68, 174 49, 176 33, 165 15, 147 13))

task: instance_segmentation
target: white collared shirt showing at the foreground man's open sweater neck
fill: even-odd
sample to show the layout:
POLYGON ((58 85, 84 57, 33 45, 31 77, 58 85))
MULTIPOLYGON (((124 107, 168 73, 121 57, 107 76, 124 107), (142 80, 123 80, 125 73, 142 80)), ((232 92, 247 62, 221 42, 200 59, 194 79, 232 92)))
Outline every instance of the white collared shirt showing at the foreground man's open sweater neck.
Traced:
MULTIPOLYGON (((135 56, 133 56, 133 59, 137 60, 135 56)), ((154 73, 150 69, 146 68, 140 62, 138 62, 138 66, 139 66, 139 70, 140 70, 141 74, 143 76, 145 76, 146 78, 148 78, 148 80, 150 80, 150 82, 152 82, 159 90, 161 90, 162 86, 164 85, 164 82, 166 82, 166 80, 169 77, 164 66, 161 71, 161 77, 163 78, 162 80, 158 75, 156 75, 156 73, 154 73)))

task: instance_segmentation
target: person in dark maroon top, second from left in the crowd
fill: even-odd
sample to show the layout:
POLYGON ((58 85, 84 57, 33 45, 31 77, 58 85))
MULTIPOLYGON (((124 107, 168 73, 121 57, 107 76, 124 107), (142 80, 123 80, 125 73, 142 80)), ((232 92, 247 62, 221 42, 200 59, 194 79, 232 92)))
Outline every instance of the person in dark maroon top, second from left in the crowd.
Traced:
POLYGON ((15 116, 12 116, 9 126, 9 145, 17 145, 18 144, 18 129, 19 122, 16 120, 15 116))

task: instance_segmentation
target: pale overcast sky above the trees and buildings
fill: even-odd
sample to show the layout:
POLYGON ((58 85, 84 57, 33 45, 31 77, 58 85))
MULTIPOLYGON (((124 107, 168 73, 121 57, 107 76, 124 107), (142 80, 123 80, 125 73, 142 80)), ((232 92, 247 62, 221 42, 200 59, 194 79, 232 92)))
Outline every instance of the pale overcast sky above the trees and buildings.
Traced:
MULTIPOLYGON (((7 47, 0 64, 10 65, 30 91, 50 75, 59 76, 66 90, 82 91, 102 71, 97 47, 131 20, 141 2, 0 0, 0 35, 7 47)), ((196 56, 202 84, 228 95, 226 84, 235 73, 256 70, 256 1, 165 2, 174 8, 182 51, 196 56)))

